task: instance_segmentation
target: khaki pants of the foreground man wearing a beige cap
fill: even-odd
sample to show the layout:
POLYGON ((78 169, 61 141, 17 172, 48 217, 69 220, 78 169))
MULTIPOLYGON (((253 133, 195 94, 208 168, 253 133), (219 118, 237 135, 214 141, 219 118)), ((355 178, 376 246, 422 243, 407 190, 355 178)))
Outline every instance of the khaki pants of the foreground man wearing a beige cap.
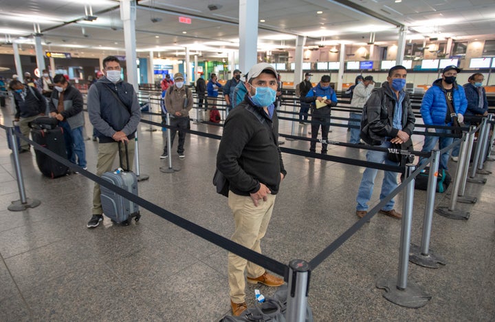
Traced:
MULTIPOLYGON (((261 254, 260 242, 265 236, 272 217, 275 195, 267 195, 267 201, 259 200, 254 206, 251 197, 229 191, 228 204, 234 213, 235 231, 230 239, 261 254)), ((245 277, 260 277, 265 268, 232 253, 228 254, 228 279, 230 299, 234 303, 245 301, 245 277)))

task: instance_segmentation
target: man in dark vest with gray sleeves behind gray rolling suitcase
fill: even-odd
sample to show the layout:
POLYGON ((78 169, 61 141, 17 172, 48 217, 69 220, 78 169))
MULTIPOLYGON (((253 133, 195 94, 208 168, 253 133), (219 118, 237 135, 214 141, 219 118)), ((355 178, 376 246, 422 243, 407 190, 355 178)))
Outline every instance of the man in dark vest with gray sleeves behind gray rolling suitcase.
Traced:
MULTIPOLYGON (((131 170, 134 160, 134 136, 141 119, 141 110, 133 85, 122 81, 120 61, 115 56, 103 60, 104 75, 89 88, 89 120, 98 137, 98 164, 96 175, 111 171, 113 160, 118 151, 118 142, 128 142, 129 164, 125 158, 122 165, 131 170)), ((124 152, 124 144, 120 144, 124 152)), ((95 228, 103 219, 100 198, 100 185, 94 185, 93 216, 87 227, 95 228)))

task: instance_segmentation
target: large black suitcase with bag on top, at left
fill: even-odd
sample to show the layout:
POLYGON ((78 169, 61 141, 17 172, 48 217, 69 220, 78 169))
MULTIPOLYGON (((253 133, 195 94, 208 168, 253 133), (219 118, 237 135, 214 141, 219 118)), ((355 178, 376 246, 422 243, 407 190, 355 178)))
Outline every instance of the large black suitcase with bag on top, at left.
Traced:
MULTIPOLYGON (((56 119, 36 118, 36 120, 30 123, 30 127, 34 142, 67 159, 63 129, 56 126, 56 119), (46 122, 43 122, 44 120, 46 122)), ((66 175, 69 171, 69 167, 53 160, 45 153, 36 149, 34 152, 36 153, 36 164, 38 164, 38 168, 48 178, 58 178, 66 175)))

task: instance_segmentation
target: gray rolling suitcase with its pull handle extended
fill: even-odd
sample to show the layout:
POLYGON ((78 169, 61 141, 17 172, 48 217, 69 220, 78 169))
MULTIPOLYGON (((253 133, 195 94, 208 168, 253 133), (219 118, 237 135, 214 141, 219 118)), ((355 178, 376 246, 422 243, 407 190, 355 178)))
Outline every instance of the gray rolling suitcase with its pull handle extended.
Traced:
MULTIPOLYGON (((129 164, 129 153, 127 153, 127 143, 125 143, 125 155, 127 164, 129 164)), ((119 186, 134 195, 137 195, 137 178, 135 173, 122 170, 122 156, 120 155, 120 142, 119 142, 119 160, 120 168, 115 171, 105 172, 102 175, 103 180, 107 180, 115 186, 119 186)), ((112 222, 117 224, 129 225, 131 219, 137 222, 141 215, 139 207, 134 202, 127 200, 126 198, 118 195, 110 189, 101 186, 101 202, 103 213, 109 217, 112 222)))

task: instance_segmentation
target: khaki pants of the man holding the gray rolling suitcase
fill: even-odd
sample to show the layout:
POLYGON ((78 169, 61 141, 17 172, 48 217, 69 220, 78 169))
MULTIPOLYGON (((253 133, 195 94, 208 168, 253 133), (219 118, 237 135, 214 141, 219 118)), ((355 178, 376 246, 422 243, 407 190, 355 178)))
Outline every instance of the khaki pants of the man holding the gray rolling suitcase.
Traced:
MULTIPOLYGON (((133 168, 134 163, 134 147, 135 141, 134 139, 129 140, 127 143, 127 149, 129 150, 129 167, 127 167, 127 162, 125 158, 125 147, 124 143, 120 144, 120 155, 122 155, 122 165, 124 166, 124 170, 133 168)), ((117 155, 118 151, 118 142, 110 142, 110 143, 100 143, 98 144, 98 164, 96 164, 96 175, 101 177, 101 175, 107 171, 113 170, 113 160, 115 160, 115 155, 117 155)), ((118 165, 120 167, 120 164, 118 165)), ((95 182, 94 190, 93 190, 93 215, 102 215, 103 209, 101 206, 101 190, 100 184, 95 182)))

